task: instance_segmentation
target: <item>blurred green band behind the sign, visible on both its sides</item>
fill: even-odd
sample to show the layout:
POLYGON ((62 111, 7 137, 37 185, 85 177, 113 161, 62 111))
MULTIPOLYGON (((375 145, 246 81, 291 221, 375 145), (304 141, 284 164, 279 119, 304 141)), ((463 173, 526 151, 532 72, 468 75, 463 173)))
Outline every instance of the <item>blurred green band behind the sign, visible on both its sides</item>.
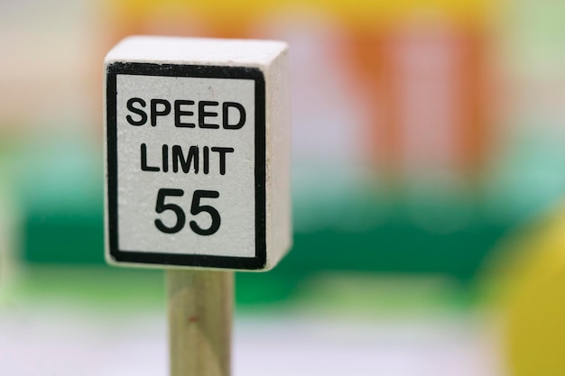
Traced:
MULTIPOLYGON (((63 134, 11 151, 27 263, 104 263, 98 142, 63 134)), ((316 174, 299 170, 292 252, 269 273, 238 273, 238 301, 283 300, 304 280, 328 271, 440 273, 471 280, 513 225, 488 220, 484 202, 481 206, 477 197, 457 193, 457 187, 438 191, 435 179, 427 188, 411 185, 408 193, 385 192, 373 181, 358 180, 367 171, 347 172, 346 167, 317 167, 316 174)))

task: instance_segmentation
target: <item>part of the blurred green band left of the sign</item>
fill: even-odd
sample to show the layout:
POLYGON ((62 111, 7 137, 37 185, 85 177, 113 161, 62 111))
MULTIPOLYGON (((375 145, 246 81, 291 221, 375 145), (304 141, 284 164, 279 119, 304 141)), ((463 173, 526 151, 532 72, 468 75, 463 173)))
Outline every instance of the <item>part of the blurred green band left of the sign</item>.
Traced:
POLYGON ((11 152, 23 260, 104 261, 101 152, 97 140, 81 133, 38 136, 11 152))

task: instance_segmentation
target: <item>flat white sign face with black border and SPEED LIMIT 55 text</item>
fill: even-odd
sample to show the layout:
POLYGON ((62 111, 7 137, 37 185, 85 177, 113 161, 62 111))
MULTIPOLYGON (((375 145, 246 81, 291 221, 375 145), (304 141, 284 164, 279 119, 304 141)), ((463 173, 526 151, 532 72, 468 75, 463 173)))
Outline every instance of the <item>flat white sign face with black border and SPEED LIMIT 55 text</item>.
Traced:
POLYGON ((264 75, 245 67, 107 68, 114 261, 265 264, 264 75))

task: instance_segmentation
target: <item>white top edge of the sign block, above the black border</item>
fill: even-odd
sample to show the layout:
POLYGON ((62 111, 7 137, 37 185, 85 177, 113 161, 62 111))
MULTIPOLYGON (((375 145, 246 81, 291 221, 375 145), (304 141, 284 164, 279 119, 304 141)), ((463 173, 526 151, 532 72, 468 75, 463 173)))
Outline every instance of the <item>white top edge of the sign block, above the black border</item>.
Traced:
POLYGON ((118 42, 104 62, 267 66, 286 50, 283 41, 131 36, 118 42))

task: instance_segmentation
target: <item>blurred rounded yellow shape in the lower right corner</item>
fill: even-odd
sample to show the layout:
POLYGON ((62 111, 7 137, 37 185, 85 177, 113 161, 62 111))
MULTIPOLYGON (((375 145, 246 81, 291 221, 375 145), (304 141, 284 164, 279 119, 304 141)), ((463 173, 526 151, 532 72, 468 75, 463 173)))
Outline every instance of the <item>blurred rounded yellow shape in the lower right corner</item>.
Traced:
POLYGON ((565 375, 565 206, 515 237, 498 272, 505 290, 505 351, 512 376, 565 375), (507 263, 505 263, 507 262, 507 263))

